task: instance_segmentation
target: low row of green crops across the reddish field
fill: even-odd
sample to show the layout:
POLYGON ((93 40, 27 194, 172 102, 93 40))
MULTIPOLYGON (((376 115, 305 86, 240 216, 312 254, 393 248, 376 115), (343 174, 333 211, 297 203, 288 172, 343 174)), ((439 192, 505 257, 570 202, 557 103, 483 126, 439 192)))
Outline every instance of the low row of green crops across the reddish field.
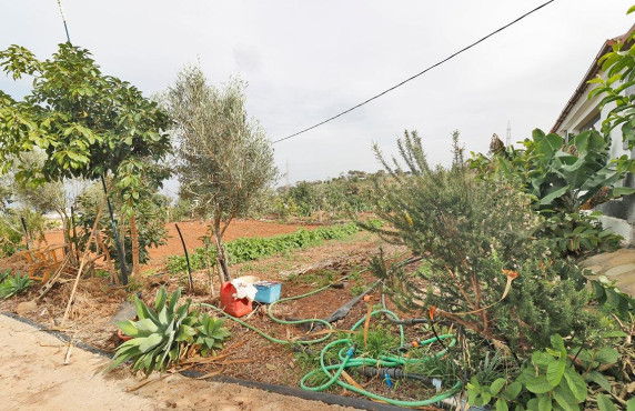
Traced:
MULTIPOLYGON (((371 221, 379 225, 379 221, 371 221)), ((256 260, 263 257, 276 254, 293 249, 316 245, 324 240, 342 240, 360 231, 353 222, 331 227, 321 227, 314 230, 299 229, 290 234, 281 234, 269 238, 242 238, 235 239, 224 244, 225 253, 230 264, 256 260)), ((201 270, 208 267, 208 261, 215 264, 215 249, 198 248, 190 254, 192 270, 201 270), (208 253, 209 252, 209 257, 208 253)), ((187 272, 188 264, 184 255, 172 255, 168 258, 165 268, 171 273, 187 272)))

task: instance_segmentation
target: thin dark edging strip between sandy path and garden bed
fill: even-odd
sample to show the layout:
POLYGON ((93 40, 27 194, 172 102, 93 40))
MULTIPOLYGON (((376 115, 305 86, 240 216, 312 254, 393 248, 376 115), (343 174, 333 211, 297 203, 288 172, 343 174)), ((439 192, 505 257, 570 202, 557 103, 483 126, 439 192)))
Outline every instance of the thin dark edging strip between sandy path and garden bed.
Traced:
MULTIPOLYGON (((20 317, 18 314, 16 314, 13 312, 9 312, 9 311, 2 311, 0 313, 2 315, 9 317, 13 320, 17 320, 17 321, 23 322, 28 325, 31 325, 33 328, 37 328, 40 331, 44 331, 44 332, 56 337, 59 340, 64 341, 64 342, 69 342, 71 340, 71 338, 68 337, 67 334, 59 332, 59 331, 49 330, 48 327, 42 325, 42 324, 31 320, 31 319, 20 317)), ((82 349, 82 350, 89 351, 93 354, 107 357, 109 359, 111 359, 113 355, 110 352, 100 350, 100 349, 92 347, 90 344, 87 344, 85 342, 82 342, 82 341, 74 342, 74 345, 82 349)), ((202 373, 202 372, 192 371, 192 370, 184 370, 184 371, 180 371, 179 373, 187 377, 187 378, 200 378, 200 377, 204 375, 204 373, 202 373)), ((330 393, 324 393, 324 392, 305 391, 305 390, 301 390, 301 389, 294 388, 294 387, 270 384, 266 382, 259 382, 259 381, 251 381, 251 380, 242 380, 242 379, 238 379, 238 378, 233 378, 233 377, 214 375, 214 377, 204 379, 204 381, 238 384, 238 385, 242 385, 242 387, 246 387, 246 388, 255 388, 255 389, 259 389, 262 391, 273 392, 273 393, 281 394, 281 395, 296 397, 296 398, 301 398, 303 400, 310 400, 310 401, 321 401, 321 402, 324 402, 324 403, 330 404, 330 405, 352 407, 352 408, 360 409, 360 410, 371 410, 371 411, 404 410, 404 408, 402 408, 402 407, 382 404, 379 402, 372 402, 372 401, 357 399, 357 398, 347 398, 347 397, 335 395, 335 394, 330 394, 330 393)))

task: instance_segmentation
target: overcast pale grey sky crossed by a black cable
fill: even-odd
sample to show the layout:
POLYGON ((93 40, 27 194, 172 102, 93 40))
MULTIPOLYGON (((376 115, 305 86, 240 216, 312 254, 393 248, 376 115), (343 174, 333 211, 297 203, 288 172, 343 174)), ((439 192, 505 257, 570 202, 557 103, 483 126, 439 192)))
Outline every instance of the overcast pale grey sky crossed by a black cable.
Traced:
MULTIPOLYGON (((546 0, 80 1, 63 0, 74 44, 107 74, 148 96, 200 61, 214 84, 249 83, 248 111, 271 140, 320 122, 422 71, 546 0)), ((274 144, 291 182, 380 167, 416 129, 433 162, 451 160, 451 132, 468 151, 492 133, 512 140, 551 129, 604 40, 626 32, 633 0, 556 0, 379 100, 274 144)), ((65 41, 54 0, 0 1, 0 48, 48 58, 65 41)), ((0 89, 29 84, 0 76, 0 89)), ((282 182, 285 182, 283 179, 282 182)))

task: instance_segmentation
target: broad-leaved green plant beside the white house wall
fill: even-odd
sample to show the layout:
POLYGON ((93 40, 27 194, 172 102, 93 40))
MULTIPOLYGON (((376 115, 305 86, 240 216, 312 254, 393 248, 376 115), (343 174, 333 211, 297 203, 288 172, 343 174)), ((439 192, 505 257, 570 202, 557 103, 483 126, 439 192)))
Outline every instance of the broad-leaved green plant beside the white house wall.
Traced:
POLYGON ((608 158, 611 138, 595 130, 570 137, 534 130, 522 150, 505 148, 492 159, 473 156, 472 169, 480 179, 521 183, 546 221, 542 237, 562 254, 579 254, 615 247, 619 237, 603 230, 601 212, 581 213, 583 206, 596 206, 634 190, 619 187, 633 170, 626 157, 608 158))

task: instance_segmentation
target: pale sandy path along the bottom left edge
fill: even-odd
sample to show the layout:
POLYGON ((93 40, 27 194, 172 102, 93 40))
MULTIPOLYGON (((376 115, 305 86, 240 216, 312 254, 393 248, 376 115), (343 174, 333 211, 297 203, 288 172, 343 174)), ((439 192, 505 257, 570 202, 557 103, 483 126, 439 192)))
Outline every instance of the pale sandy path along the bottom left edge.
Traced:
MULTIPOLYGON (((345 410, 235 384, 169 375, 128 392, 141 377, 103 374, 108 359, 0 314, 0 410, 345 410)), ((352 410, 347 408, 347 410, 352 410)))

